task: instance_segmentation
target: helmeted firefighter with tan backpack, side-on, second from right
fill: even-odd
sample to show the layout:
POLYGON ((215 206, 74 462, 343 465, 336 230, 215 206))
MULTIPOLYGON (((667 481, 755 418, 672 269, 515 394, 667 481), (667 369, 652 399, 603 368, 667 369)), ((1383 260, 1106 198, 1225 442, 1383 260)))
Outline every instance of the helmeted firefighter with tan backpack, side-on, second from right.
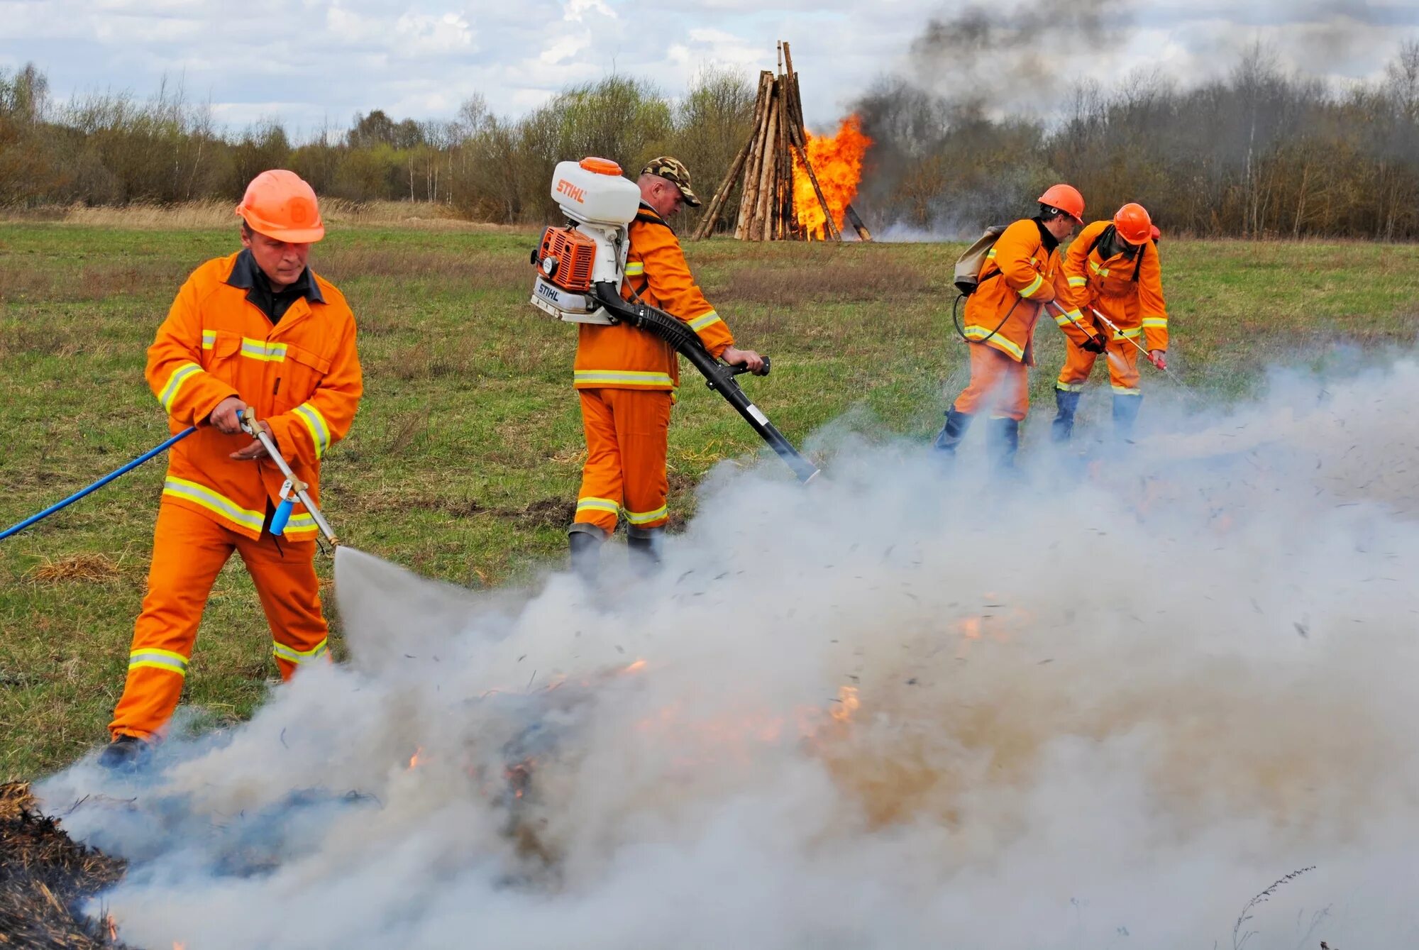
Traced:
POLYGON ((1040 213, 1005 228, 986 255, 975 294, 966 299, 965 336, 971 383, 946 410, 935 449, 955 455, 971 421, 989 413, 990 458, 1015 465, 1020 421, 1030 406, 1029 366, 1040 308, 1054 299, 1060 241, 1083 224, 1084 196, 1054 184, 1039 197, 1040 213))

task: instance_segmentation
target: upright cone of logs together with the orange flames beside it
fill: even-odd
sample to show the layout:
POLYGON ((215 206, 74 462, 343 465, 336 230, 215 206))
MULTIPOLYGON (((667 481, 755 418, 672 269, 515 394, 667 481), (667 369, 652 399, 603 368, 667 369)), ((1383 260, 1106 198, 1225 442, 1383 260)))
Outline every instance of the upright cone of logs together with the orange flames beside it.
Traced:
POLYGON ((834 138, 807 132, 793 57, 789 44, 779 43, 779 72, 759 74, 753 129, 694 237, 710 237, 735 183, 742 183, 734 228, 741 241, 841 241, 844 220, 870 241, 851 204, 870 145, 857 116, 849 116, 834 138))

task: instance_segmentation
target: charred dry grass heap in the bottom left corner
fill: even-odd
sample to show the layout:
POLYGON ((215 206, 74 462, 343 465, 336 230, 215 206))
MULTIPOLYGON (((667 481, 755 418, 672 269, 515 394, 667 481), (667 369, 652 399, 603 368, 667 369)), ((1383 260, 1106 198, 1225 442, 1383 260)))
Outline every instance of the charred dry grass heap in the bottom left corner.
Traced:
POLYGON ((0 946, 122 947, 109 920, 77 913, 122 876, 122 861, 75 844, 41 815, 27 786, 0 786, 0 946))

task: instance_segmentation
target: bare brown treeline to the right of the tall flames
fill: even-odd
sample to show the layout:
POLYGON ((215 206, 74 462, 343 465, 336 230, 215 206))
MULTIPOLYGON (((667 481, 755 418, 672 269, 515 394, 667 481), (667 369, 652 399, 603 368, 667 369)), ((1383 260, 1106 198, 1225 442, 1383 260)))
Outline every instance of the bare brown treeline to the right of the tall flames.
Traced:
POLYGON ((1086 82, 1049 125, 988 108, 878 85, 860 104, 877 145, 858 204, 969 234, 1063 180, 1084 193, 1088 217, 1141 201, 1172 233, 1419 238, 1419 43, 1384 79, 1342 89, 1288 75, 1256 47, 1199 86, 1086 82))

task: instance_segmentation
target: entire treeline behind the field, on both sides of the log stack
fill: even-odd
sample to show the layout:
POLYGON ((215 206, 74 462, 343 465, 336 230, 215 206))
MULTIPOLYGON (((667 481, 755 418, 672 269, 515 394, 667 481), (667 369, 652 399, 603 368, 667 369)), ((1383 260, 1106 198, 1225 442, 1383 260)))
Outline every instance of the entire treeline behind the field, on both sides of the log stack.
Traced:
MULTIPOLYGON (((234 200, 268 167, 289 167, 321 194, 420 200, 475 220, 553 217, 552 166, 600 155, 634 173, 671 153, 708 197, 752 123, 746 77, 710 71, 683 96, 610 77, 573 86, 519 118, 474 96, 450 121, 382 111, 349 129, 292 142, 274 122, 241 132, 163 88, 150 99, 89 95, 55 104, 33 65, 0 71, 0 206, 234 200)), ((857 104, 868 152, 857 208, 890 224, 971 234, 1029 208, 1059 180, 1083 190, 1090 217, 1142 201, 1172 234, 1419 238, 1419 43, 1378 82, 1337 88, 1284 72, 1261 48, 1226 77, 1179 86, 1135 77, 1076 86, 1066 115, 995 115, 908 81, 857 104)), ((731 207, 734 207, 731 197, 731 207)), ((695 225, 687 211, 685 231, 695 225)), ((724 227, 724 223, 721 223, 724 227)))

